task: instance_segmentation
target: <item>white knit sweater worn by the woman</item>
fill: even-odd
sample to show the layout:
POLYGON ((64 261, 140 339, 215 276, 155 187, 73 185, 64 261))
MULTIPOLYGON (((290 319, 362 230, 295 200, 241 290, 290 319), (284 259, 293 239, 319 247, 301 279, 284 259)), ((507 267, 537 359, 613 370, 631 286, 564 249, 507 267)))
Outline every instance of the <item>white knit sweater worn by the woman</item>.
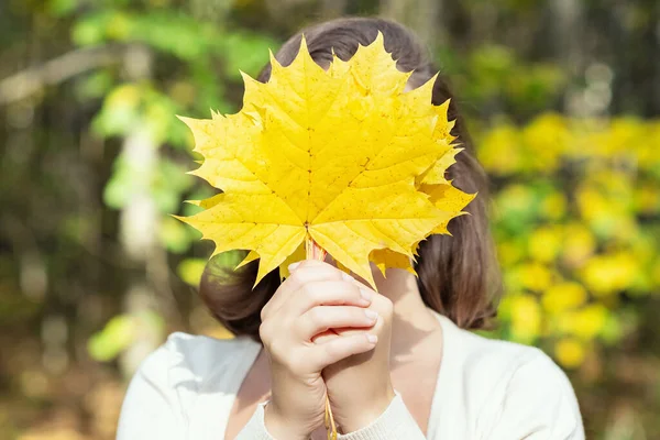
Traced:
MULTIPOLYGON (((584 439, 571 384, 546 354, 479 337, 436 316, 443 355, 427 432, 397 394, 372 425, 340 439, 584 439)), ((172 334, 131 381, 118 440, 224 439, 235 395, 260 350, 248 338, 172 334)), ((263 405, 237 439, 273 440, 264 427, 263 405)))

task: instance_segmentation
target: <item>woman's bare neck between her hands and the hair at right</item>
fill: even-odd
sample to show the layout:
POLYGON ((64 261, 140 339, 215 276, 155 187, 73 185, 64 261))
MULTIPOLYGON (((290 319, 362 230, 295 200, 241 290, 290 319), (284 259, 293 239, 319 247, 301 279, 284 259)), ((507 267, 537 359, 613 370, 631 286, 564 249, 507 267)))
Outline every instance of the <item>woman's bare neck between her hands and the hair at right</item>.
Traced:
POLYGON ((415 275, 404 270, 387 270, 387 277, 374 273, 378 293, 394 305, 392 355, 410 353, 417 343, 440 329, 440 324, 421 299, 415 275))

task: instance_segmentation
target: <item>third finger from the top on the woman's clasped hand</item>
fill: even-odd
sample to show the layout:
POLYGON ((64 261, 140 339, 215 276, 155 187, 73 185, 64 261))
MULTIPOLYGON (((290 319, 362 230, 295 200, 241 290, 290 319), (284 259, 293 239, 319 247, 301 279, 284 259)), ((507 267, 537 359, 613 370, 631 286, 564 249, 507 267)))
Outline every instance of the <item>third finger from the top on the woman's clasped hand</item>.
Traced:
POLYGON ((302 314, 294 326, 296 336, 304 341, 311 341, 314 337, 329 329, 369 328, 373 327, 377 319, 378 314, 362 307, 317 306, 302 314))

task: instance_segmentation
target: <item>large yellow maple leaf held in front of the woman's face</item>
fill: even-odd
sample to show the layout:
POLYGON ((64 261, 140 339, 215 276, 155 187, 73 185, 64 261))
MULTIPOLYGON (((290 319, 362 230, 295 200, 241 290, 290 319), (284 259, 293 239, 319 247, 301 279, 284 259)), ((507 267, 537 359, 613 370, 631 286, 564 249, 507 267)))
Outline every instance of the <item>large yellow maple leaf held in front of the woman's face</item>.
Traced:
POLYGON ((396 68, 382 34, 328 70, 305 38, 289 66, 272 54, 271 64, 266 84, 243 75, 240 112, 180 118, 204 156, 191 174, 223 193, 179 219, 212 240, 215 253, 250 250, 241 265, 260 258, 256 283, 299 260, 310 239, 375 287, 373 251, 409 261, 473 197, 444 179, 459 151, 448 103, 431 105, 436 78, 404 91, 410 73, 396 68))

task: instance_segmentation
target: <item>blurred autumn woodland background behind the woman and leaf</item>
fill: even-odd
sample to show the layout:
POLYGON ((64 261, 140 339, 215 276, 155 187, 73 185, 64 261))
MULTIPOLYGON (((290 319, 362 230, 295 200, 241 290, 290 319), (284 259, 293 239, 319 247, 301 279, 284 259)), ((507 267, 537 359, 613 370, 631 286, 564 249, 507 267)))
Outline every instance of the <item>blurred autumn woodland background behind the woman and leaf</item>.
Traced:
POLYGON ((660 2, 2 0, 0 440, 112 439, 169 332, 228 337, 196 293, 210 245, 168 217, 211 194, 175 114, 237 111, 239 69, 345 14, 415 29, 469 116, 490 334, 553 356, 590 439, 660 439, 660 2))

